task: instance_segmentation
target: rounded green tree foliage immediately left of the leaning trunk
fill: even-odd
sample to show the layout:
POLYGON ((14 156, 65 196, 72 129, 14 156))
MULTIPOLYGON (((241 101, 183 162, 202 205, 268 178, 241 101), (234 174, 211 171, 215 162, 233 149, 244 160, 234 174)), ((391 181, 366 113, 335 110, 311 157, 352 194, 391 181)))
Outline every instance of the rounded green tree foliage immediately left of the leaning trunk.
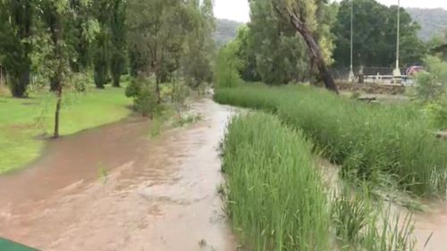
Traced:
POLYGON ((251 1, 250 10, 249 29, 240 29, 237 39, 240 39, 239 54, 245 61, 244 66, 255 64, 257 73, 242 69, 245 71, 242 77, 259 75, 267 84, 308 79, 309 56, 304 41, 288 21, 275 13, 272 1, 251 1))

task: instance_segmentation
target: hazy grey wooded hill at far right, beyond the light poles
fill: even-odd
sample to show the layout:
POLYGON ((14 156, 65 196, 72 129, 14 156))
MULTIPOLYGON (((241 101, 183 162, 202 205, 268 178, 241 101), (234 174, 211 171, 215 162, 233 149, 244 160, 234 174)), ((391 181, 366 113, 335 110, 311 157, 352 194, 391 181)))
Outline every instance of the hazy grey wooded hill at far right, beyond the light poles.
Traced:
POLYGON ((419 38, 424 41, 433 38, 447 29, 447 10, 408 8, 407 12, 421 26, 419 38))

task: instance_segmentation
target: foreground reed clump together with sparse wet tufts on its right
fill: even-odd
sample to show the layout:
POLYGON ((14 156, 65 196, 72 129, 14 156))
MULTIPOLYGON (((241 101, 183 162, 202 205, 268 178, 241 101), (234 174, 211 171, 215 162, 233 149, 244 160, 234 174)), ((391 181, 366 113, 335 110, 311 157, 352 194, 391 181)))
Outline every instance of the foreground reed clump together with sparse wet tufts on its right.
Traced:
POLYGON ((367 192, 326 188, 311 149, 274 115, 233 119, 223 197, 243 250, 413 250, 410 217, 392 217, 367 192))

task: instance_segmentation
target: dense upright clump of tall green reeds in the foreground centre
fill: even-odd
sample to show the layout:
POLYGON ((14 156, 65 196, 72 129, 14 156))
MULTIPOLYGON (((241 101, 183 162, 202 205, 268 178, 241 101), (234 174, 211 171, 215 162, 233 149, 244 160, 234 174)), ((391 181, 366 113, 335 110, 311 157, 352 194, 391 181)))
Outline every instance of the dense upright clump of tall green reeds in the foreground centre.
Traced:
POLYGON ((249 114, 229 125, 226 211, 249 250, 331 249, 328 202, 310 149, 272 115, 249 114))

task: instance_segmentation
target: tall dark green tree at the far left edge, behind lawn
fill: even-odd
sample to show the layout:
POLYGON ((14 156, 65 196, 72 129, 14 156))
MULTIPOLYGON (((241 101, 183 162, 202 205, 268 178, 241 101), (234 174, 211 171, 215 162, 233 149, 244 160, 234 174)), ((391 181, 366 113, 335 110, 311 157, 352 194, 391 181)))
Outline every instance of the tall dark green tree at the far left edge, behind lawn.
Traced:
POLYGON ((11 93, 25 97, 30 85, 30 53, 35 2, 31 0, 0 1, 0 54, 7 72, 11 93))

